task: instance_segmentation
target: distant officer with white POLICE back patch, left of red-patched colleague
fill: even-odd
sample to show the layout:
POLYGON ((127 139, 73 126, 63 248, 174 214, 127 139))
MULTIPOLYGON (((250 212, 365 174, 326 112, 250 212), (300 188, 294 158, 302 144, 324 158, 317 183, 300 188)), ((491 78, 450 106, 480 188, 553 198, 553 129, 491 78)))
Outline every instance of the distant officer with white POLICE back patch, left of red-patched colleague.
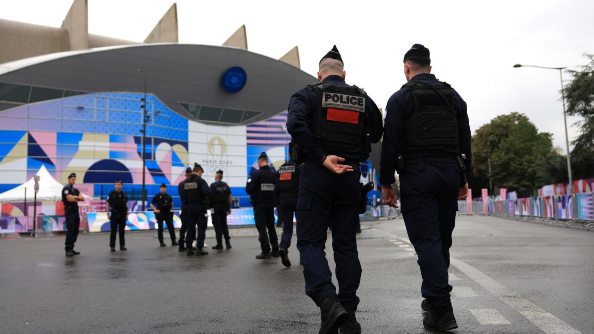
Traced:
POLYGON ((262 152, 258 156, 258 166, 260 169, 249 175, 248 182, 245 184, 245 192, 253 198, 254 218, 258 234, 260 234, 258 240, 262 253, 258 254, 256 259, 270 259, 271 256, 279 256, 279 238, 274 229, 276 173, 268 166, 266 152, 262 152), (268 234, 266 229, 268 229, 268 234))

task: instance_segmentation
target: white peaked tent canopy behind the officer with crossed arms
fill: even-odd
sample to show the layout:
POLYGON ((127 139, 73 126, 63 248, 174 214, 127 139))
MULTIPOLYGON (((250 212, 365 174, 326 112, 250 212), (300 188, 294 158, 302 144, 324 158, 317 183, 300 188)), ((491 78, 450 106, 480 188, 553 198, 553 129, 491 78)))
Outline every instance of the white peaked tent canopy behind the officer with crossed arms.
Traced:
MULTIPOLYGON (((39 192, 37 193, 37 201, 61 201, 62 200, 62 188, 64 185, 56 181, 49 174, 48 169, 45 165, 42 165, 37 171, 36 175, 39 175, 39 192)), ((23 202, 25 201, 25 189, 27 189, 27 201, 33 201, 35 194, 35 180, 30 178, 29 181, 19 185, 16 188, 5 191, 0 194, 0 203, 4 202, 23 202)), ((76 186, 75 186, 76 187, 76 186)), ((88 197, 83 195, 84 197, 88 197)))

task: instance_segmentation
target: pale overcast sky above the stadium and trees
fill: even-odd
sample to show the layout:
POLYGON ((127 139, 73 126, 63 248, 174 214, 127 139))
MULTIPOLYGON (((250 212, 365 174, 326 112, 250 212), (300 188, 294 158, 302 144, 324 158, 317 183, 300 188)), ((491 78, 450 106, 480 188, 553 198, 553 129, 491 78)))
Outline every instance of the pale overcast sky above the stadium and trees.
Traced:
MULTIPOLYGON (((168 0, 88 0, 89 33, 143 41, 168 0)), ((315 75, 336 44, 347 83, 378 106, 405 83, 402 58, 413 43, 431 51, 433 70, 466 100, 474 131, 497 115, 525 113, 565 148, 558 71, 594 53, 594 1, 201 1, 178 0, 179 42, 221 45, 242 24, 248 49, 280 58, 299 46, 315 75)), ((0 18, 59 27, 71 0, 0 0, 0 18)), ((564 75, 568 79, 568 75, 564 75)), ((568 118, 568 125, 576 118, 568 118)), ((575 137, 576 127, 569 128, 575 137)), ((565 149, 564 149, 565 150, 565 149)))

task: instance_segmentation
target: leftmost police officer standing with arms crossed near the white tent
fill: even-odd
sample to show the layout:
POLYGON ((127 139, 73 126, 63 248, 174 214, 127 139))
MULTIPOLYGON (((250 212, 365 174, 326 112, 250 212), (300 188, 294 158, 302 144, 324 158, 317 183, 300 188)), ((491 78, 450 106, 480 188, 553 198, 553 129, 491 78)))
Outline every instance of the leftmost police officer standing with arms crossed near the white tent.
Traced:
POLYGON ((83 195, 77 188, 74 188, 76 174, 68 175, 68 184, 62 188, 62 203, 64 203, 64 216, 66 219, 66 256, 75 256, 80 251, 74 250, 74 242, 78 237, 78 228, 80 228, 80 216, 78 215, 78 202, 84 201, 83 195))

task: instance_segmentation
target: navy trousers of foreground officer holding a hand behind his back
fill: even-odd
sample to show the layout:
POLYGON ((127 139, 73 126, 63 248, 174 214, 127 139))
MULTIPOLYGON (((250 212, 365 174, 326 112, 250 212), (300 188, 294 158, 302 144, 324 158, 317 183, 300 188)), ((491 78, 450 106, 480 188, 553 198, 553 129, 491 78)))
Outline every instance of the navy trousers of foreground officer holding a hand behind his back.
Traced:
POLYGON ((305 293, 319 306, 328 295, 335 295, 332 273, 326 260, 328 227, 332 227, 332 248, 336 263, 340 303, 348 311, 356 311, 356 292, 361 281, 361 263, 357 251, 357 222, 361 198, 361 169, 334 174, 317 163, 305 164, 299 179, 297 200, 297 249, 304 266, 305 293))

